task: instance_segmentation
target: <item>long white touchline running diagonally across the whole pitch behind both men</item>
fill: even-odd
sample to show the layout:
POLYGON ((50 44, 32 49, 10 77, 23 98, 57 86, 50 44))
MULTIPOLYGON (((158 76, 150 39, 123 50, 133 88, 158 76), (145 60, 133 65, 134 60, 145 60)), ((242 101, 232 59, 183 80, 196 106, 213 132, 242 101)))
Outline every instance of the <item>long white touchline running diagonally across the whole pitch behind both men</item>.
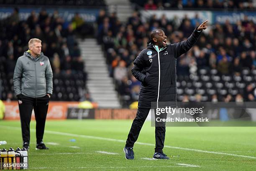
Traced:
MULTIPOLYGON (((12 129, 20 130, 20 128, 18 128, 18 127, 10 127, 10 126, 3 126, 3 125, 0 125, 0 127, 12 128, 12 129)), ((35 129, 31 129, 31 131, 36 132, 35 129)), ((95 136, 90 136, 90 135, 79 135, 79 134, 71 134, 71 133, 62 133, 62 132, 56 132, 56 131, 51 131, 51 130, 45 130, 44 133, 49 133, 49 134, 54 134, 54 135, 65 135, 65 136, 78 137, 78 138, 90 138, 90 139, 95 139, 95 140, 106 140, 106 141, 115 141, 115 142, 125 143, 125 140, 117 140, 117 139, 113 139, 113 138, 95 137, 95 136)), ((155 144, 151 144, 151 143, 136 142, 136 144, 155 146, 155 144)), ((215 152, 215 151, 204 151, 204 150, 198 150, 198 149, 192 149, 192 148, 174 147, 174 146, 169 146, 169 145, 164 145, 164 147, 165 148, 174 148, 174 149, 179 149, 179 150, 187 150, 187 151, 197 151, 197 152, 201 152, 201 153, 211 153, 211 154, 220 154, 220 155, 227 155, 227 156, 236 156, 236 157, 244 157, 244 158, 256 159, 256 157, 254 157, 254 156, 244 156, 244 155, 230 154, 230 153, 221 153, 221 152, 215 152)))

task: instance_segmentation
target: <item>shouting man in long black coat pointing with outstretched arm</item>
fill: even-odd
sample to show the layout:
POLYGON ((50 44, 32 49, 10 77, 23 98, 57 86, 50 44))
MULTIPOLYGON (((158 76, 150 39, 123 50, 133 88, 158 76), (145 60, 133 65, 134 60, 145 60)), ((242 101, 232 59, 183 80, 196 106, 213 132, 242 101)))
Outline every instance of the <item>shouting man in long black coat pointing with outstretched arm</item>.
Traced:
MULTIPOLYGON (((207 28, 203 22, 195 29, 186 41, 166 44, 164 31, 156 29, 151 32, 151 40, 134 60, 131 69, 133 76, 141 81, 141 92, 138 100, 138 111, 133 120, 126 140, 126 159, 134 159, 133 145, 138 139, 142 125, 151 109, 151 102, 177 102, 176 61, 179 56, 189 51, 207 28)), ((165 124, 155 128, 156 148, 153 158, 169 159, 164 153, 165 124)))

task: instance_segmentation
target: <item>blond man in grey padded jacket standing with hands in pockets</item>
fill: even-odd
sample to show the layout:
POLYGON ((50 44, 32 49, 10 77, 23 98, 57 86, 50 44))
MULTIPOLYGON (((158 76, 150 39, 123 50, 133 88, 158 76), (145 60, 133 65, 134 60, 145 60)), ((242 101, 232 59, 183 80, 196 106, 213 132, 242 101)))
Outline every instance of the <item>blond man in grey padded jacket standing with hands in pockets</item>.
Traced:
POLYGON ((13 84, 18 97, 23 147, 29 148, 32 110, 36 117, 36 149, 48 149, 43 143, 44 127, 53 91, 53 73, 47 56, 41 52, 41 40, 32 38, 29 50, 17 60, 13 84))

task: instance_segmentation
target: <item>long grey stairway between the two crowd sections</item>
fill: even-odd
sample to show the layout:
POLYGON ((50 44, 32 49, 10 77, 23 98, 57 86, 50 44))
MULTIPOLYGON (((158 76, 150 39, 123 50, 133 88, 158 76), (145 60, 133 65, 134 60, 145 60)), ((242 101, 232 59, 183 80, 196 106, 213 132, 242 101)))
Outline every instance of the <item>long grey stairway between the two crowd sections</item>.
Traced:
POLYGON ((87 88, 93 101, 100 108, 120 108, 113 79, 109 76, 104 53, 96 39, 78 39, 84 68, 87 72, 87 88))

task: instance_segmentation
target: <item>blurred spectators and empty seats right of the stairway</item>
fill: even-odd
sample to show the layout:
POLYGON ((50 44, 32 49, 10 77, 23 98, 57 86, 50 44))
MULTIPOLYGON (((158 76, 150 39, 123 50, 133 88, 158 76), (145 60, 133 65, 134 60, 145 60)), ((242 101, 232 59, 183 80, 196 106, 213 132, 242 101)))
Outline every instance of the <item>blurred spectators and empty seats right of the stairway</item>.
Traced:
MULTIPOLYGON (((153 15, 147 22, 142 22, 135 11, 125 25, 120 25, 115 14, 101 14, 98 40, 105 45, 110 74, 123 99, 128 95, 133 100, 138 99, 140 82, 131 75, 132 62, 146 47, 150 32, 161 28, 169 43, 177 43, 186 40, 202 22, 198 15, 192 19, 185 15, 181 22, 175 18, 168 20, 165 15, 160 19, 153 15)), ((231 96, 230 100, 235 101, 236 97, 242 96, 245 101, 254 101, 255 30, 256 24, 246 16, 235 24, 227 20, 225 24, 210 25, 196 46, 177 61, 178 99, 224 101, 231 96)))

